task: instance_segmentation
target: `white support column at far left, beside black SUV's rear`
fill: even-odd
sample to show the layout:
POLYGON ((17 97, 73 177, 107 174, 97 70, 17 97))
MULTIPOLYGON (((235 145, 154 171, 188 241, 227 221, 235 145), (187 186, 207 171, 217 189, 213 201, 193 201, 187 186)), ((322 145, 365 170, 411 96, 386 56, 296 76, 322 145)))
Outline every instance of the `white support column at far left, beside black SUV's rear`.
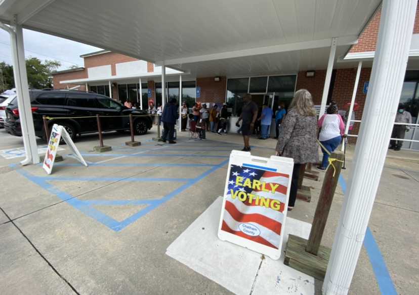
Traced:
POLYGON ((20 162, 22 165, 39 163, 38 148, 36 145, 35 129, 33 127, 32 110, 30 106, 28 76, 26 73, 25 50, 23 47, 22 26, 16 24, 14 18, 15 33, 10 34, 13 56, 13 76, 15 78, 16 93, 18 98, 20 127, 22 130, 23 145, 26 159, 20 162))

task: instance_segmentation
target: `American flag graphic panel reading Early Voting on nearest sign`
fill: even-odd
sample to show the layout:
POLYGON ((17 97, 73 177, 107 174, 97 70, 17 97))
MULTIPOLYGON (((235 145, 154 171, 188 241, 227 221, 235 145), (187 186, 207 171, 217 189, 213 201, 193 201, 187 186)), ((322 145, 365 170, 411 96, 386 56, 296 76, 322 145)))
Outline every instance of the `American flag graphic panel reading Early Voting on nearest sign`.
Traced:
POLYGON ((221 230, 278 249, 289 175, 249 166, 231 165, 221 230))

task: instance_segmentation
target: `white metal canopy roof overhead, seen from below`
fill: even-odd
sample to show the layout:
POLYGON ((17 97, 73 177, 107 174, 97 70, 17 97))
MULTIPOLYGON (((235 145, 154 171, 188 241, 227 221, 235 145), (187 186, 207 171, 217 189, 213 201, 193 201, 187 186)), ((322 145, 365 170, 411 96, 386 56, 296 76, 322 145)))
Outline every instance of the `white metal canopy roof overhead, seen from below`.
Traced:
POLYGON ((232 69, 235 75, 245 75, 256 67, 257 72, 284 73, 324 69, 327 50, 317 49, 329 47, 331 38, 338 37, 337 58, 345 54, 380 3, 4 0, 0 19, 7 23, 17 15, 25 28, 164 62, 203 77, 230 75, 232 69))

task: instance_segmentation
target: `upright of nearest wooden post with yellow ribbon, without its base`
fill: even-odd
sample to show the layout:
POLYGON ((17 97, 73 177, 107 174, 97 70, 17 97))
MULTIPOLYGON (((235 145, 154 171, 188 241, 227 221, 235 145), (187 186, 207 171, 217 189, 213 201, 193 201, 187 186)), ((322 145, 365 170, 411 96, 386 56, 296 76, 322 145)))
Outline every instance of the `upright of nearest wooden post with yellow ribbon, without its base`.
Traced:
POLYGON ((338 185, 339 175, 341 174, 342 162, 344 160, 344 154, 342 152, 334 152, 330 156, 331 159, 337 159, 332 165, 327 168, 326 174, 324 175, 323 185, 320 191, 319 201, 316 207, 316 213, 314 214, 313 225, 311 227, 310 237, 307 243, 306 251, 314 255, 320 247, 321 238, 323 236, 324 227, 326 226, 327 216, 331 203, 333 201, 334 191, 338 185), (334 175, 334 176, 333 176, 334 175))

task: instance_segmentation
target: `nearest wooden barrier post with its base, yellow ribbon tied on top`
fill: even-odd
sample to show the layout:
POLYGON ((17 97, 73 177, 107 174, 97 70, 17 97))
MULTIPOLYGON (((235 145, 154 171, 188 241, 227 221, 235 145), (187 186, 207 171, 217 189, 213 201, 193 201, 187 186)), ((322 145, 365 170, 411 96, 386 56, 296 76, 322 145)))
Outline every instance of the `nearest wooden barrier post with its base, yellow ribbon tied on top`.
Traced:
POLYGON ((314 214, 313 225, 308 240, 295 235, 288 236, 284 264, 316 279, 323 280, 326 274, 331 249, 320 245, 326 226, 327 217, 338 185, 339 175, 344 160, 342 152, 334 152, 330 159, 336 159, 327 168, 319 201, 314 214), (335 170, 336 169, 336 170, 335 170))

